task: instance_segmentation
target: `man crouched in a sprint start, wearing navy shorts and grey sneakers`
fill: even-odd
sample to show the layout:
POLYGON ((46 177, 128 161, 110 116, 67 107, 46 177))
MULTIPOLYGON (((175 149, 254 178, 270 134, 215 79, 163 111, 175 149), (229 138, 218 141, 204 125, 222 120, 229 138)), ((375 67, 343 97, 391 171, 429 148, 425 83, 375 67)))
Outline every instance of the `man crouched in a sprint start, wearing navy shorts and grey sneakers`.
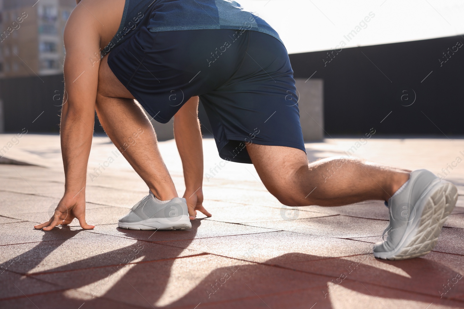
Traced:
POLYGON ((134 99, 157 121, 176 115, 175 137, 189 184, 184 197, 193 198, 188 212, 191 219, 195 208, 209 215, 196 189, 202 181, 198 123, 188 126, 196 121, 196 98, 184 103, 197 95, 221 158, 254 164, 283 204, 386 201, 388 236, 374 247, 377 258, 430 252, 456 204, 456 187, 427 170, 342 157, 308 164, 287 51, 263 19, 234 1, 82 0, 68 20, 64 44, 69 95, 61 116, 65 193, 50 221, 36 228, 50 230, 74 217, 84 229, 94 227, 85 222, 84 192, 95 108, 118 148, 139 128, 144 130, 123 154, 147 183, 149 195, 119 220, 119 227, 191 227, 186 200, 177 196, 155 132, 134 99), (189 127, 196 128, 194 139, 186 138, 189 127), (321 177, 327 170, 336 173, 321 177))

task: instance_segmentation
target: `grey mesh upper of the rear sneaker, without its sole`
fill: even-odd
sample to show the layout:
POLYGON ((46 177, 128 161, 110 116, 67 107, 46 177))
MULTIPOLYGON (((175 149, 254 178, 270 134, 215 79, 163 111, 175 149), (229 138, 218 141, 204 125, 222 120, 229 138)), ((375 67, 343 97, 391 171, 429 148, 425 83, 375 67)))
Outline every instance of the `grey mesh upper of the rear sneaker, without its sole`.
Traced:
POLYGON ((407 186, 388 200, 390 223, 384 231, 384 235, 388 233, 387 240, 376 243, 374 252, 389 252, 399 245, 409 222, 420 212, 416 209, 417 202, 426 195, 425 188, 434 180, 439 181, 439 178, 428 170, 411 172, 407 186))

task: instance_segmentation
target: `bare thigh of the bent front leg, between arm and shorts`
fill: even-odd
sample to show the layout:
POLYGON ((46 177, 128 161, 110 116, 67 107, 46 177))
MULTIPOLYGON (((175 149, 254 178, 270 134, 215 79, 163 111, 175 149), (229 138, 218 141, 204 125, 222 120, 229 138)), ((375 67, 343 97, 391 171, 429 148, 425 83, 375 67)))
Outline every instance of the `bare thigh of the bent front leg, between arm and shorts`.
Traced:
POLYGON ((129 90, 117 79, 108 66, 108 55, 100 61, 98 71, 98 94, 109 98, 134 99, 129 90))

